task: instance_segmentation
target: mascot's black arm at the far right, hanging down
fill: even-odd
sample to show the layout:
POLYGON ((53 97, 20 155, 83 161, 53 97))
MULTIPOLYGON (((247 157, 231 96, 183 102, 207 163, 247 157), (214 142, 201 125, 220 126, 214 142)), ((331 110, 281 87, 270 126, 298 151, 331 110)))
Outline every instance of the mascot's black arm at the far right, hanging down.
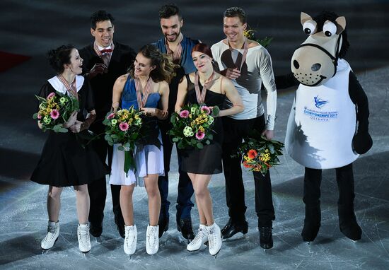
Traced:
POLYGON ((363 154, 373 145, 373 140, 368 134, 368 100, 364 89, 352 71, 349 74, 349 96, 356 106, 356 121, 358 122, 358 130, 352 144, 356 153, 363 154))

